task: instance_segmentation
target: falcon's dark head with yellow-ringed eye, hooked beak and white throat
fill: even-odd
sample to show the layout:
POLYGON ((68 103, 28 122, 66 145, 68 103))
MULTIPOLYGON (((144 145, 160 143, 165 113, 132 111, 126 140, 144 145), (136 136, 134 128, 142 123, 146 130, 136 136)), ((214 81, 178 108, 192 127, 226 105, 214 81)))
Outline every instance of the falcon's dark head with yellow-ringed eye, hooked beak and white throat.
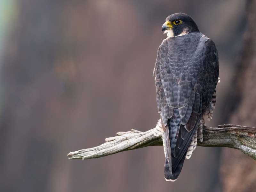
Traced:
POLYGON ((199 32, 195 21, 185 13, 175 13, 166 18, 162 31, 167 37, 186 35, 199 32))

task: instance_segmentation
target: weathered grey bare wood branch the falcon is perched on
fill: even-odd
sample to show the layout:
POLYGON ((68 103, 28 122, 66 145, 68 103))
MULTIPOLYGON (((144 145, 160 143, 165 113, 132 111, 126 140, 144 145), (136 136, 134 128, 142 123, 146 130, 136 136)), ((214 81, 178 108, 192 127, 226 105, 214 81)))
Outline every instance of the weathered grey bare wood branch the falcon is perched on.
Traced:
MULTIPOLYGON (((147 132, 133 130, 118 132, 115 137, 105 139, 100 146, 82 149, 68 154, 69 159, 92 159, 108 156, 121 151, 143 148, 147 146, 162 146, 162 136, 155 136, 154 129, 147 132)), ((197 146, 229 147, 239 149, 256 160, 256 128, 240 125, 219 125, 217 128, 204 127, 203 142, 197 141, 197 146)))

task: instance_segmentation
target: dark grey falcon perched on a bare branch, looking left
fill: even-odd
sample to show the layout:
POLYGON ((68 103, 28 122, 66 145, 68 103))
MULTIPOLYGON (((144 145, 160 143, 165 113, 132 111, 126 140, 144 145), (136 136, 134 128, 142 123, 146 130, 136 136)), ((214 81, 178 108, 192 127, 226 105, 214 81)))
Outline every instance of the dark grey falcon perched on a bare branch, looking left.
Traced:
POLYGON ((205 119, 212 118, 219 78, 218 52, 185 13, 168 16, 167 38, 157 50, 153 75, 160 120, 154 134, 163 136, 164 178, 175 181, 185 157, 203 141, 205 119))

